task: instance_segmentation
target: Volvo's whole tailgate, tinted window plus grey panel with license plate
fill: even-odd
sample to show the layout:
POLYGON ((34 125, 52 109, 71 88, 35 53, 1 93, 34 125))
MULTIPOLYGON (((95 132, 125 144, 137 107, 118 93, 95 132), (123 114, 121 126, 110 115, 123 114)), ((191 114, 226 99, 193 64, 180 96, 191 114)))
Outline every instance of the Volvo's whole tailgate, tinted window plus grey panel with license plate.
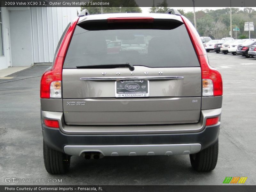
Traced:
POLYGON ((164 22, 171 27, 162 28, 166 26, 163 20, 154 20, 145 26, 143 23, 133 24, 141 26, 136 29, 128 28, 129 25, 124 29, 123 25, 115 24, 114 27, 108 26, 112 30, 99 30, 91 27, 92 22, 89 26, 78 24, 62 72, 66 124, 181 124, 199 121, 201 68, 196 53, 180 19, 164 22), (138 35, 146 39, 147 46, 140 48, 143 51, 129 51, 126 45, 119 53, 107 52, 106 40, 127 40, 138 35), (134 71, 124 67, 76 68, 125 62, 134 65, 134 71), (128 83, 139 86, 142 91, 148 89, 145 95, 117 93, 116 86, 128 84, 123 79, 131 78, 142 81, 132 79, 128 83))

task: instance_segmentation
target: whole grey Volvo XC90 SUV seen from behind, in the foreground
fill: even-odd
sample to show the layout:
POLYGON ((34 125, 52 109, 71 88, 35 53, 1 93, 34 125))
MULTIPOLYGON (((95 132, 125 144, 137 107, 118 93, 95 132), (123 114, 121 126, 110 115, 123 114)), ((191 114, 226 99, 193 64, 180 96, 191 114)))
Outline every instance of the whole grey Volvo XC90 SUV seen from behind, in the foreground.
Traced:
POLYGON ((183 154, 197 171, 215 168, 221 75, 188 19, 167 13, 84 10, 68 25, 41 79, 47 172, 67 172, 71 156, 183 154), (108 52, 109 40, 137 36, 146 47, 108 52))

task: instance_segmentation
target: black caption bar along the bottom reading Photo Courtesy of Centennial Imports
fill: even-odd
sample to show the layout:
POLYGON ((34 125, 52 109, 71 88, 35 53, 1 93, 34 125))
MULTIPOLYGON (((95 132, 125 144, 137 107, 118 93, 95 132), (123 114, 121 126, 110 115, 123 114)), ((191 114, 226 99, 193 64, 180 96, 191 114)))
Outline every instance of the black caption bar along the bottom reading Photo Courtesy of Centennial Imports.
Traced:
POLYGON ((102 186, 77 186, 77 185, 9 185, 9 186, 0 186, 1 192, 252 192, 256 190, 256 186, 254 185, 222 185, 222 186, 210 186, 210 185, 151 185, 151 186, 143 186, 143 185, 102 185, 102 186))

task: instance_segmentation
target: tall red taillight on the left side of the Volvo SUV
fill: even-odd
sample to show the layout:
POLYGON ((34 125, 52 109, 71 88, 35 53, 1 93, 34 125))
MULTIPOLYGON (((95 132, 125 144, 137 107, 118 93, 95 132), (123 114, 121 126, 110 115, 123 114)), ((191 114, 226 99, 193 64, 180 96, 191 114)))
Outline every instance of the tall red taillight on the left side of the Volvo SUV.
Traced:
MULTIPOLYGON (((62 66, 65 60, 66 53, 68 51, 68 46, 71 41, 72 35, 76 28, 76 23, 79 20, 75 20, 68 28, 58 50, 57 56, 54 58, 54 63, 52 68, 49 71, 46 71, 41 78, 40 85, 40 97, 43 99, 51 98, 51 84, 52 82, 57 82, 59 85, 59 92, 56 95, 61 95, 61 80, 62 80, 62 66)), ((52 98, 61 98, 61 96, 52 97, 52 98)))

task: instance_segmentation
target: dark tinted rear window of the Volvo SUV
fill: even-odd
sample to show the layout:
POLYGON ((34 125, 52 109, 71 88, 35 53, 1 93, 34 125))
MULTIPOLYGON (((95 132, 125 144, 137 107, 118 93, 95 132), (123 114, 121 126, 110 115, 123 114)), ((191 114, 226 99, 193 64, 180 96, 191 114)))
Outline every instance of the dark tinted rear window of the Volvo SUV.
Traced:
POLYGON ((78 24, 63 68, 126 62, 151 68, 199 67, 186 27, 178 22, 160 25, 154 21, 152 25, 134 23, 126 27, 78 24))

